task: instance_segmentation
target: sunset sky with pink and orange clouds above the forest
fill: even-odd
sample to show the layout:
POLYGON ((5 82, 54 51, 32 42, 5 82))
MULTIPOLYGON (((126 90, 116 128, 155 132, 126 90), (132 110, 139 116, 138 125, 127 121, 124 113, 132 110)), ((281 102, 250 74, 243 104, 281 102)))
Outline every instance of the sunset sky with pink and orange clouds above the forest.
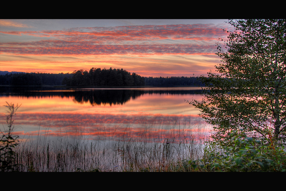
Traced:
POLYGON ((227 19, 1 19, 0 70, 124 69, 143 77, 207 75, 227 19))

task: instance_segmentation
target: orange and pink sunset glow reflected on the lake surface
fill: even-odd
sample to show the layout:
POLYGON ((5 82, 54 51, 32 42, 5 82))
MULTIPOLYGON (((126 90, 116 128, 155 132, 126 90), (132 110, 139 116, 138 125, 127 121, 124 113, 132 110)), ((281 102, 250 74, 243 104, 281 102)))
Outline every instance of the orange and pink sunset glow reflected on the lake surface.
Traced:
POLYGON ((145 93, 124 104, 92 105, 79 103, 73 97, 2 96, 0 100, 1 124, 5 124, 5 107, 8 103, 21 104, 15 116, 19 135, 61 137, 75 136, 84 129, 85 136, 93 138, 126 133, 137 138, 144 136, 170 137, 196 132, 192 124, 201 121, 198 110, 184 99, 201 99, 199 95, 168 95, 145 93))

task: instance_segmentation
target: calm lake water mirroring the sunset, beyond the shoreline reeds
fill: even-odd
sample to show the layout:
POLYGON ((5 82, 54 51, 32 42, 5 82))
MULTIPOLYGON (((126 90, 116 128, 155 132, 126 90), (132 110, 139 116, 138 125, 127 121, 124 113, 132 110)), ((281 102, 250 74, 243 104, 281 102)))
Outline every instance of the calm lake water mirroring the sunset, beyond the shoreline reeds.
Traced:
POLYGON ((184 100, 201 100, 199 88, 55 89, 0 87, 1 129, 6 102, 21 104, 15 116, 23 139, 88 139, 189 136, 199 111, 184 100))

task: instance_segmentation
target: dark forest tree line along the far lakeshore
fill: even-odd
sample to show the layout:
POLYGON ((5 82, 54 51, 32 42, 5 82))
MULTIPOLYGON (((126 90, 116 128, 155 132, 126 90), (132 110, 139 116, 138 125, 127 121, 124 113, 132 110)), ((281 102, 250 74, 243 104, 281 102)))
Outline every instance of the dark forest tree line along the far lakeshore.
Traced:
POLYGON ((0 85, 66 85, 69 87, 124 87, 124 86, 203 86, 197 77, 142 77, 123 69, 91 68, 70 73, 6 73, 0 75, 0 85))

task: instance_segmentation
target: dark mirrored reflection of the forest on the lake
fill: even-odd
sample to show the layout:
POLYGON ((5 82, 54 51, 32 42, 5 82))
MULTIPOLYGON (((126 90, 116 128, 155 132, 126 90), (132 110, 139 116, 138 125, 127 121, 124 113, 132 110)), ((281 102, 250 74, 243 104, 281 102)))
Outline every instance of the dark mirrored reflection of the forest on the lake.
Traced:
POLYGON ((190 95, 195 94, 198 88, 101 88, 101 89, 63 89, 53 87, 10 87, 0 88, 0 96, 22 96, 22 97, 62 97, 73 98, 75 102, 87 103, 92 106, 100 104, 124 104, 130 99, 136 99, 144 94, 159 95, 190 95))

